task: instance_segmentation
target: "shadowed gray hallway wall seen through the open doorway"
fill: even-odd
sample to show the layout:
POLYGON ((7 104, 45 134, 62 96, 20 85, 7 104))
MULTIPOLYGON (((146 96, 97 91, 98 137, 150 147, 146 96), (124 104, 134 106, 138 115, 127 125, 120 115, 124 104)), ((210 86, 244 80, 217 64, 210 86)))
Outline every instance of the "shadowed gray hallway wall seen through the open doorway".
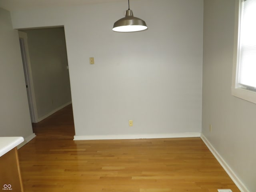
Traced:
POLYGON ((28 49, 38 119, 71 102, 64 28, 22 30, 28 49))

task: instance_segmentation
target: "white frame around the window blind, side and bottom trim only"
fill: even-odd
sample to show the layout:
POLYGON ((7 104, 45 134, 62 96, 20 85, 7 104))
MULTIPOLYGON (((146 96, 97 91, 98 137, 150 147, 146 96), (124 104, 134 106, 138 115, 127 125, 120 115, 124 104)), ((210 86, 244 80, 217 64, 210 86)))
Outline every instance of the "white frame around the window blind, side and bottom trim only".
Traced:
POLYGON ((240 42, 240 18, 241 18, 242 0, 236 0, 235 6, 235 30, 234 30, 234 57, 232 71, 232 88, 233 96, 247 100, 256 104, 256 92, 246 89, 245 86, 238 84, 238 66, 239 66, 239 42, 240 42))

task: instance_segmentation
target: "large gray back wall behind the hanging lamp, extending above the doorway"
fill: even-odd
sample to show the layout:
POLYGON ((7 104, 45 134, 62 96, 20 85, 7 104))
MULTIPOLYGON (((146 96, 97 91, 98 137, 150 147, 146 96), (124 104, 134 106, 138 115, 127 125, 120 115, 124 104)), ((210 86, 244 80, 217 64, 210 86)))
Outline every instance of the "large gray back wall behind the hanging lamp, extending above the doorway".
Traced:
POLYGON ((64 25, 76 136, 200 133, 203 0, 132 7, 148 30, 112 31, 127 2, 17 10, 12 22, 64 25))

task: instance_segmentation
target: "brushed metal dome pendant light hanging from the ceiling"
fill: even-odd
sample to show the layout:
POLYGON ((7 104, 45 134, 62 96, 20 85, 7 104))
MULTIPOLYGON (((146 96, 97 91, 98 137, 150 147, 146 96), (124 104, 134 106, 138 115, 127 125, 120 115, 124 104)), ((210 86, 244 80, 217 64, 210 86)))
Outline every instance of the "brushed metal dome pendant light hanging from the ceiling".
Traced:
POLYGON ((130 1, 128 0, 128 10, 126 10, 125 17, 116 21, 112 30, 116 32, 135 32, 143 31, 147 28, 144 20, 133 16, 132 10, 130 10, 130 1))

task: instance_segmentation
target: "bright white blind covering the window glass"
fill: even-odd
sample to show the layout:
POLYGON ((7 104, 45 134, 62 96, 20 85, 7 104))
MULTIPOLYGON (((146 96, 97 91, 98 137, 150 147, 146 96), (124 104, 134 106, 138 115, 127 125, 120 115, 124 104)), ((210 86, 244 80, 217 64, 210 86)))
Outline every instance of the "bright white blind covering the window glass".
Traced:
POLYGON ((256 0, 242 0, 238 84, 256 88, 256 0))

